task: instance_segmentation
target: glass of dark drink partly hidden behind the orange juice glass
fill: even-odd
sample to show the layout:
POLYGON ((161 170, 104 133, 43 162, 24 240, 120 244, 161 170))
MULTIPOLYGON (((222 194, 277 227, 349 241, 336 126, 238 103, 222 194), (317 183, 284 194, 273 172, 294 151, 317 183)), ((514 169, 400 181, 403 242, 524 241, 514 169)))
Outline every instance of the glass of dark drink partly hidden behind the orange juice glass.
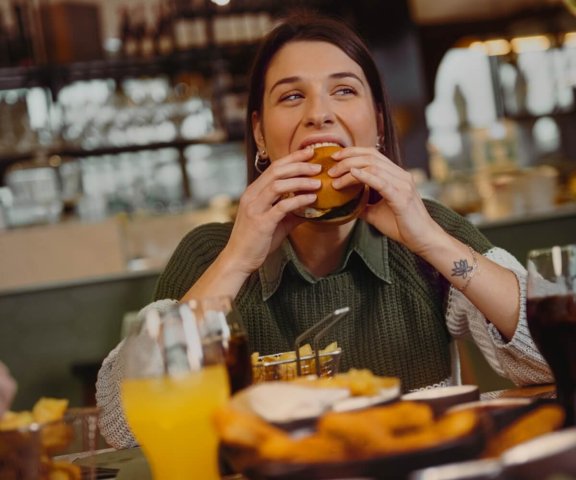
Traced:
POLYGON ((252 362, 248 335, 232 297, 222 295, 192 299, 188 302, 203 332, 221 342, 230 381, 236 393, 252 383, 252 362))

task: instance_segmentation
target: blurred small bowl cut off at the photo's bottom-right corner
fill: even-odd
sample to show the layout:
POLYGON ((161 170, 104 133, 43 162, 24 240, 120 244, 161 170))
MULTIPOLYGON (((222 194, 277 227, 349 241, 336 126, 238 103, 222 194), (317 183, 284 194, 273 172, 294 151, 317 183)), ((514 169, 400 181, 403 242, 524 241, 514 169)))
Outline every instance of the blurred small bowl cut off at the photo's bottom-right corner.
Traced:
POLYGON ((547 433, 513 447, 502 455, 501 461, 505 478, 573 478, 576 427, 547 433))

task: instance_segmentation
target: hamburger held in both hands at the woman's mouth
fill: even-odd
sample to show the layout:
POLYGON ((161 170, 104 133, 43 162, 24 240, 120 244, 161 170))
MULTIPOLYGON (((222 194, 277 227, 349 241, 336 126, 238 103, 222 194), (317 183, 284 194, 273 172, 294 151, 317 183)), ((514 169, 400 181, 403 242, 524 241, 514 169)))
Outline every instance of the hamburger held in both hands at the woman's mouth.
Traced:
POLYGON ((335 143, 322 143, 314 146, 314 156, 309 160, 322 165, 322 171, 312 178, 322 181, 316 191, 316 201, 294 212, 295 215, 314 222, 346 223, 362 211, 368 200, 368 188, 363 184, 350 185, 336 190, 328 170, 336 164, 331 155, 341 150, 335 143))

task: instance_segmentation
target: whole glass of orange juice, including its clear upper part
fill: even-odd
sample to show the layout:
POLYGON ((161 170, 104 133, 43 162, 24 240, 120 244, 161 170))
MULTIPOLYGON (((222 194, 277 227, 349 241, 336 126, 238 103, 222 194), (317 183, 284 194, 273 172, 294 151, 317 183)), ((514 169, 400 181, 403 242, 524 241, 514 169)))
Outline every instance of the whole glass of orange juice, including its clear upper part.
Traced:
POLYGON ((122 405, 153 477, 219 480, 212 417, 229 397, 219 339, 178 305, 150 311, 122 355, 122 405))

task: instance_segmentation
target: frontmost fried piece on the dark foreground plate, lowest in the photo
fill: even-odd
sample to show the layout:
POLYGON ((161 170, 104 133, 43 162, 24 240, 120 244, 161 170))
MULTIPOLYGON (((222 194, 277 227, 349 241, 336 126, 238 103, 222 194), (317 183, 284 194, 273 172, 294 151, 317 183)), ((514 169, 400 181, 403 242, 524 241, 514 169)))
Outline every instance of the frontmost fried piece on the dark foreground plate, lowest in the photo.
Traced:
POLYGON ((297 439, 273 436, 261 445, 259 453, 268 460, 292 463, 338 462, 347 458, 342 442, 321 434, 297 439))

